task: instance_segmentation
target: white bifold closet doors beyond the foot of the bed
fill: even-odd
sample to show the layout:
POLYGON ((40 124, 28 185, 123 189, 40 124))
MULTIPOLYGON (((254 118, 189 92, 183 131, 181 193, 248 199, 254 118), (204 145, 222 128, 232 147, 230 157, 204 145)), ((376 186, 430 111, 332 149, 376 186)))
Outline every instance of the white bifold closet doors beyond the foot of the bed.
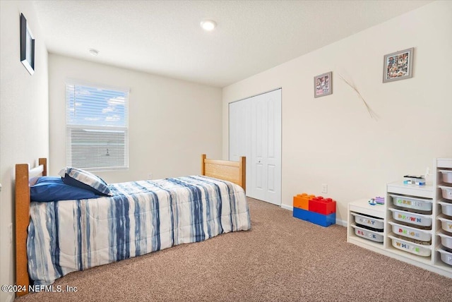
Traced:
POLYGON ((246 156, 246 195, 281 205, 281 89, 229 104, 229 146, 246 156))

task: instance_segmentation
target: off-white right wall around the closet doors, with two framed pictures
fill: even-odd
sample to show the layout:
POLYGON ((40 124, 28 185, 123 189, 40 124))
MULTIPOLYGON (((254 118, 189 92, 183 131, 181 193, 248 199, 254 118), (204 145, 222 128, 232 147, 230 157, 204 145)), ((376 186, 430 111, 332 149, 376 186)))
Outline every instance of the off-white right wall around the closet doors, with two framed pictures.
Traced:
POLYGON ((436 1, 223 89, 228 103, 283 88, 283 205, 311 193, 347 203, 452 157, 452 1, 436 1), (413 77, 382 83, 383 56, 415 47, 413 77), (314 98, 314 75, 333 71, 333 95, 314 98), (379 119, 371 119, 355 83, 379 119), (321 184, 328 193, 321 193, 321 184))

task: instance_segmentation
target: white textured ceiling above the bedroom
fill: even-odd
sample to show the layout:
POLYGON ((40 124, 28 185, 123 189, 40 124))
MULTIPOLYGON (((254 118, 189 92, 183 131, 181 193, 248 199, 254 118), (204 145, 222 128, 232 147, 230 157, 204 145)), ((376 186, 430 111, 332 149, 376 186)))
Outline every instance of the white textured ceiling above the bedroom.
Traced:
POLYGON ((429 2, 34 1, 50 53, 217 87, 429 2))

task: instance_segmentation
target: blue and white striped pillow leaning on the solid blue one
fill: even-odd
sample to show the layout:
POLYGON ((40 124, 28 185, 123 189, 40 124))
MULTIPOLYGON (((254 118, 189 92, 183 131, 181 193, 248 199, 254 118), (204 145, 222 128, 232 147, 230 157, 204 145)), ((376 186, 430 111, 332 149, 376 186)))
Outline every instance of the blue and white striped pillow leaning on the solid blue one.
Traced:
POLYGON ((66 185, 83 188, 92 191, 97 195, 112 196, 110 189, 105 181, 88 171, 66 167, 59 171, 59 176, 63 178, 66 185))

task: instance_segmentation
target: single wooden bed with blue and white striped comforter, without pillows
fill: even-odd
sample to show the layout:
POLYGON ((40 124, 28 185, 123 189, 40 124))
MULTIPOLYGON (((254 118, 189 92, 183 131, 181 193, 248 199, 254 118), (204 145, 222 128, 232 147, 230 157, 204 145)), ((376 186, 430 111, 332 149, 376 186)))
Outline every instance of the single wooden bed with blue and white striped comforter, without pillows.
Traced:
POLYGON ((30 179, 47 176, 47 159, 16 164, 18 296, 69 272, 249 230, 245 161, 201 155, 201 175, 105 183, 108 195, 47 202, 30 201, 30 179))

